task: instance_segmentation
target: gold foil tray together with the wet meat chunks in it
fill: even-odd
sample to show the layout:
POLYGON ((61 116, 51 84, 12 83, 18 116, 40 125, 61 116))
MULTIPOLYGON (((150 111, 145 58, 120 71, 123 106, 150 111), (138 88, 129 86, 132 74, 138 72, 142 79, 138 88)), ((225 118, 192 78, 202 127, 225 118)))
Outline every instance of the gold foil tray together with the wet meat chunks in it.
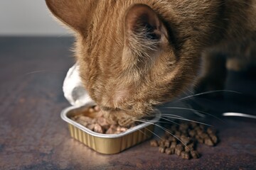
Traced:
MULTIPOLYGON (((150 124, 141 123, 133 128, 124 128, 117 123, 108 123, 101 115, 95 114, 96 109, 90 108, 91 104, 70 106, 60 115, 68 123, 71 137, 102 154, 117 154, 148 140, 153 135, 154 123, 161 117, 161 113, 155 110, 155 118, 147 120, 150 124)), ((158 145, 158 142, 154 145, 158 145)))

